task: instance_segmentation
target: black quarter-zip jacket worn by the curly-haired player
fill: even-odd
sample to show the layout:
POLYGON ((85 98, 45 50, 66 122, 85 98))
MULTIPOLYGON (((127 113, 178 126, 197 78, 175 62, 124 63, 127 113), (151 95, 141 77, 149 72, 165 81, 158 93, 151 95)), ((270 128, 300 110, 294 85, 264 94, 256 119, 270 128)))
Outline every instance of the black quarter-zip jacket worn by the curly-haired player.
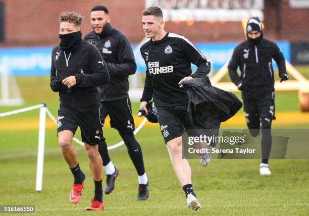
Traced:
POLYGON ((107 65, 98 49, 84 40, 72 52, 64 51, 60 45, 53 48, 51 83, 62 81, 69 76, 75 76, 77 84, 70 90, 61 84, 59 100, 61 104, 71 107, 98 103, 100 90, 97 86, 110 81, 107 65))

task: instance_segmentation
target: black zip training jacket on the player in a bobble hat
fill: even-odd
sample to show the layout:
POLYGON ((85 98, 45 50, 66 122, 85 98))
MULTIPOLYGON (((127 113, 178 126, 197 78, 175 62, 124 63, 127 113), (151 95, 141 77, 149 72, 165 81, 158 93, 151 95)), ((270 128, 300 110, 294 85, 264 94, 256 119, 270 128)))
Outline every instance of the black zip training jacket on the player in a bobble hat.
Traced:
POLYGON ((262 38, 258 44, 248 40, 240 43, 233 52, 228 69, 232 82, 238 85, 242 81, 243 98, 263 96, 274 91, 274 59, 279 68, 279 74, 286 73, 285 59, 276 43, 262 38), (240 68, 241 75, 237 74, 240 68))

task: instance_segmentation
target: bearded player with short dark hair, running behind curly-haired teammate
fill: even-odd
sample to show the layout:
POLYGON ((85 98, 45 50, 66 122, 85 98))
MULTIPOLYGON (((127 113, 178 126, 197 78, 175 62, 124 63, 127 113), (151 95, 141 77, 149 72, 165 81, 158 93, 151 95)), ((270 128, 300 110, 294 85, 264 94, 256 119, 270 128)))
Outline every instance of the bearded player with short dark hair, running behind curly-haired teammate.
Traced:
MULTIPOLYGON (((146 200, 149 196, 148 178, 145 173, 141 147, 133 134, 134 120, 128 94, 128 77, 136 71, 132 47, 127 37, 110 24, 111 17, 106 7, 95 6, 91 9, 90 16, 93 31, 85 36, 85 40, 99 49, 111 75, 111 82, 100 86, 102 92, 101 120, 104 123, 109 115, 111 127, 117 129, 122 137, 138 175, 137 200, 146 200)), ((119 170, 110 159, 106 142, 99 145, 99 152, 107 174, 105 193, 110 194, 119 177, 119 170)))

